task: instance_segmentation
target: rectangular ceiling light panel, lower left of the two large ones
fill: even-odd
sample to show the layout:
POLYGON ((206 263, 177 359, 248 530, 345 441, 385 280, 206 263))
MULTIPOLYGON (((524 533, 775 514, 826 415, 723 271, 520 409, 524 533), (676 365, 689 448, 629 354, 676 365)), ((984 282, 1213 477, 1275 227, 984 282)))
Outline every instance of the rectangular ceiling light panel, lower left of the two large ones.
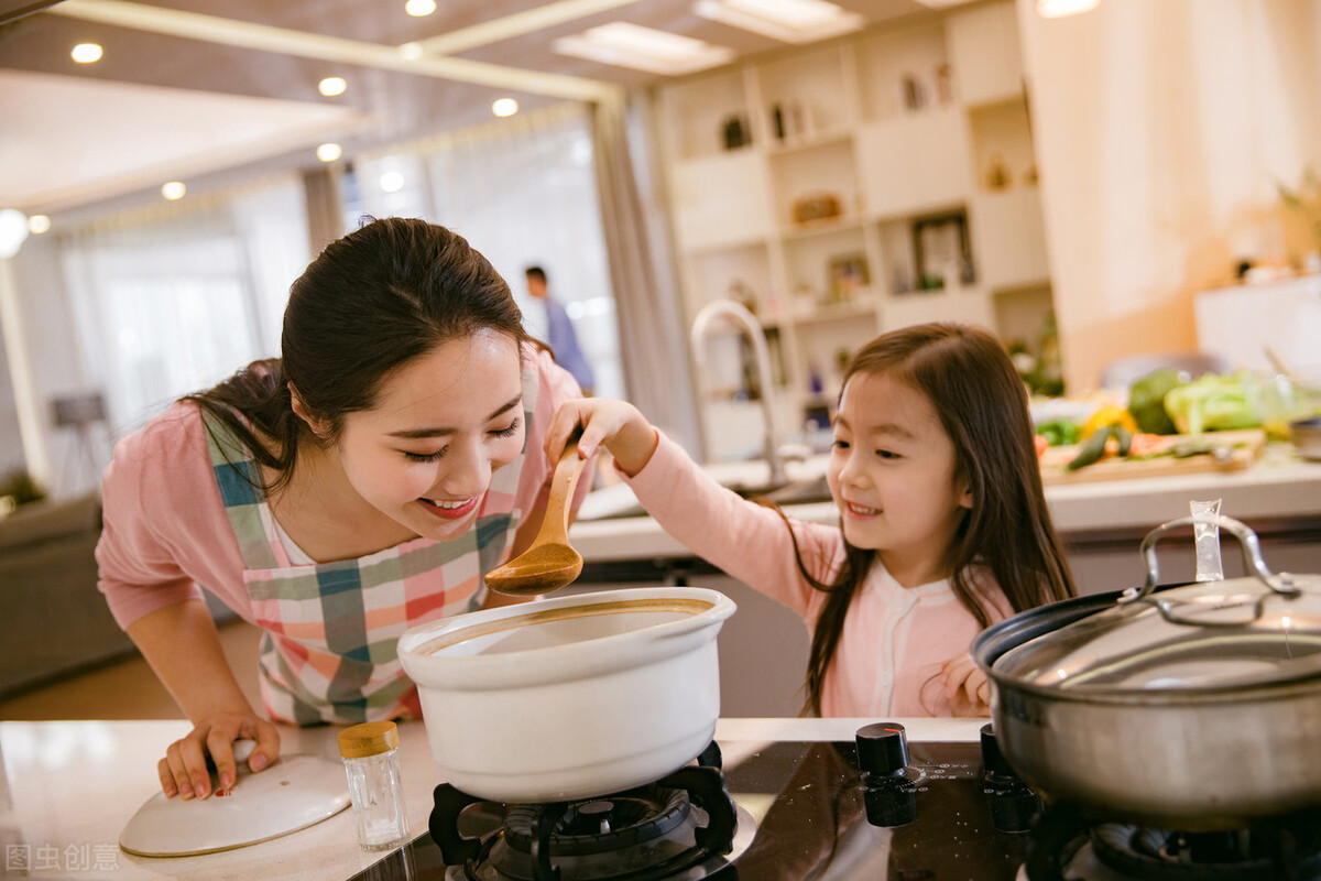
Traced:
POLYGON ((589 28, 555 41, 561 55, 631 67, 666 77, 690 74, 733 61, 733 49, 701 40, 643 28, 626 21, 589 28))

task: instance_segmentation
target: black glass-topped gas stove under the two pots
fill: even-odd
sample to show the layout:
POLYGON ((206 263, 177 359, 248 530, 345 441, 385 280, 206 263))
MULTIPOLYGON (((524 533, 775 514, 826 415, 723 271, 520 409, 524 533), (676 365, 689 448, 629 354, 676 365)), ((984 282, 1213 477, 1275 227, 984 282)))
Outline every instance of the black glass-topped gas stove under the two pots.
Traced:
POLYGON ((556 804, 436 787, 429 831, 353 881, 1321 881, 1321 816, 1223 833, 1045 804, 980 741, 725 741, 655 783, 556 804))

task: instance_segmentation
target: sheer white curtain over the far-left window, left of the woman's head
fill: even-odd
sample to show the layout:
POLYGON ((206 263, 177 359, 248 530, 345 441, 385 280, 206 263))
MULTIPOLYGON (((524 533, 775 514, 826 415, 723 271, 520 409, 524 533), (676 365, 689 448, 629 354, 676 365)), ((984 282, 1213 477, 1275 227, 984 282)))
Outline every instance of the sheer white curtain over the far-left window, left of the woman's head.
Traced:
POLYGON ((309 259, 296 177, 70 234, 62 263, 78 343, 114 433, 279 355, 289 283, 309 259))

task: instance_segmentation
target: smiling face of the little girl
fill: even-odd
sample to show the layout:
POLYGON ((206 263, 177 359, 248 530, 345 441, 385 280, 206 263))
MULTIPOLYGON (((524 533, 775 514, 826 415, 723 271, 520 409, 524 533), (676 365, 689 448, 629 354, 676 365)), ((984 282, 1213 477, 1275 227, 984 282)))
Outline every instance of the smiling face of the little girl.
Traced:
POLYGON ((827 470, 844 538, 880 552, 905 586, 947 577, 946 552, 972 495, 927 396, 886 374, 855 374, 835 419, 827 470))

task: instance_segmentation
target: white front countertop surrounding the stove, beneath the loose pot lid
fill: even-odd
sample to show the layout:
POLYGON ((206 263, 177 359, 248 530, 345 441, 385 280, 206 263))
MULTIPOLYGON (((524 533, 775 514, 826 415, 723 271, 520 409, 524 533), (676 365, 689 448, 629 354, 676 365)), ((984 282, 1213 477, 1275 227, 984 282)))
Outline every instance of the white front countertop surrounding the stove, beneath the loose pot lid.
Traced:
MULTIPOLYGON (((768 741, 848 741, 873 721, 721 719, 716 740, 727 765, 733 765, 768 741)), ((971 741, 987 720, 893 721, 902 722, 914 741, 971 741)), ((0 722, 4 877, 325 881, 347 878, 382 859, 358 848, 351 808, 292 835, 221 853, 148 859, 120 851, 120 829, 157 790, 157 759, 189 728, 185 721, 0 722)), ((281 728, 283 754, 337 759, 337 730, 281 728)), ((427 828, 432 790, 443 777, 421 722, 402 724, 400 741, 408 820, 416 836, 427 828)))

